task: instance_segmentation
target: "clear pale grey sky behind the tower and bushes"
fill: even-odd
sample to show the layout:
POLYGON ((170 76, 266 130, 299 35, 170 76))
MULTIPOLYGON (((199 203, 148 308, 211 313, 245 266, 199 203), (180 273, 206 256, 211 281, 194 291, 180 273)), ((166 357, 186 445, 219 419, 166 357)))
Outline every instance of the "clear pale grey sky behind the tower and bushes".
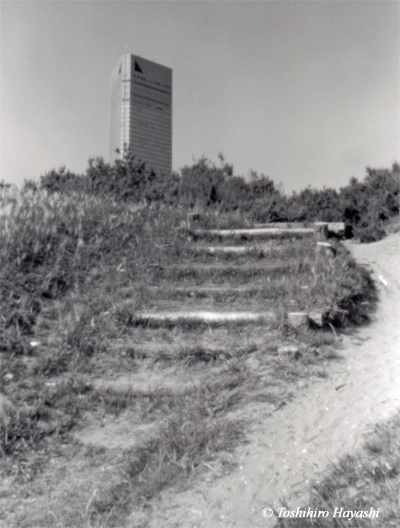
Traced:
POLYGON ((400 162, 397 1, 1 1, 0 180, 108 161, 124 53, 173 70, 173 169, 218 155, 285 192, 400 162))

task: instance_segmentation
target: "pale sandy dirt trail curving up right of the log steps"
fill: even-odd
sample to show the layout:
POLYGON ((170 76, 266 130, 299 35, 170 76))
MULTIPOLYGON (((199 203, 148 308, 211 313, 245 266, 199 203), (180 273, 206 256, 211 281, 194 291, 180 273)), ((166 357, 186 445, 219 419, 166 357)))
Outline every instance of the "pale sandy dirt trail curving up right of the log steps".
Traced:
POLYGON ((359 447, 368 425, 400 408, 400 233, 349 249, 373 270, 380 292, 374 321, 344 338, 344 361, 328 380, 302 389, 278 412, 261 404, 246 409, 252 426, 235 453, 237 469, 167 493, 152 528, 270 528, 276 519, 265 519, 263 508, 278 508, 283 498, 290 507, 307 506, 309 480, 359 447))

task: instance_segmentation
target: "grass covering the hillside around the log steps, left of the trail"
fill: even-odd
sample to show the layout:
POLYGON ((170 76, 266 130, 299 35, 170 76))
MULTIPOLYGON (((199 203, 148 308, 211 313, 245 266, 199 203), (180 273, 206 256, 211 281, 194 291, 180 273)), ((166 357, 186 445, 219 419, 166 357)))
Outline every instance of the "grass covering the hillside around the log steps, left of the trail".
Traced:
MULTIPOLYGON (((224 255, 218 262, 273 263, 296 254, 289 276, 228 272, 194 280, 167 271, 178 263, 215 261, 193 255, 179 229, 184 209, 132 210, 84 194, 1 193, 0 447, 5 482, 15 485, 23 505, 11 514, 13 499, 5 493, 9 526, 124 526, 132 509, 142 511, 165 486, 179 487, 208 471, 210 461, 223 460, 243 441, 241 412, 249 402, 274 409, 291 398, 297 381, 325 376, 338 358, 330 325, 362 322, 375 302, 368 274, 341 246, 332 259, 316 253, 310 238, 271 242, 264 259, 224 255), (177 283, 229 287, 238 280, 251 289, 213 297, 174 292, 177 283), (162 302, 188 309, 273 306, 278 320, 264 328, 132 324, 138 310, 162 302), (287 311, 315 308, 326 313, 321 333, 286 324, 287 311), (285 343, 298 351, 280 352, 285 343), (121 375, 133 380, 126 389, 121 375), (110 385, 100 386, 99 378, 110 385), (160 387, 152 380, 161 380, 160 387), (130 436, 144 425, 155 430, 118 456, 108 447, 93 455, 92 447, 98 461, 92 455, 83 460, 89 448, 75 436, 79 427, 107 428, 119 419, 130 436), (50 507, 38 497, 51 481, 50 507), (37 507, 25 502, 27 494, 37 507)), ((247 225, 240 214, 211 220, 204 225, 247 225)))

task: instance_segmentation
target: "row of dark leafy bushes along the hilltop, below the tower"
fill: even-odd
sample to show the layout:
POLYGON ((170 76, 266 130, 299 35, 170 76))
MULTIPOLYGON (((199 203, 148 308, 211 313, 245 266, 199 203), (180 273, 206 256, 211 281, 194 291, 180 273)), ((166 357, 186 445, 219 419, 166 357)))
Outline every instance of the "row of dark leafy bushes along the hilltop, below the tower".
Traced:
MULTIPOLYGON (((114 164, 89 160, 84 176, 61 167, 41 178, 40 189, 52 193, 84 192, 117 201, 158 203, 218 213, 241 211, 249 222, 345 222, 346 236, 379 240, 384 226, 399 214, 400 166, 370 169, 362 182, 352 178, 339 191, 308 187, 286 196, 263 174, 246 180, 220 155, 220 165, 203 157, 181 173, 158 174, 127 152, 114 164)), ((37 190, 32 182, 26 189, 37 190)))

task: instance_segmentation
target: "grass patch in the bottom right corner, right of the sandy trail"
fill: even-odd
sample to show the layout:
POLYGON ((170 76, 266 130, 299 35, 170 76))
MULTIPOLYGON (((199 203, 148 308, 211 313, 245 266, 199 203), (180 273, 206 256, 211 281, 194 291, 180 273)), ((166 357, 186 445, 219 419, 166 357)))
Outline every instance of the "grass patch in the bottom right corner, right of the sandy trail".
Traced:
MULTIPOLYGON (((320 528, 398 526, 400 511, 400 413, 377 424, 366 437, 363 448, 347 455, 329 468, 320 483, 312 486, 312 510, 329 511, 318 518, 320 528), (343 510, 379 510, 377 518, 333 517, 335 508, 343 510)), ((314 519, 280 519, 282 528, 315 526, 314 519), (313 524, 314 522, 314 524, 313 524)))

